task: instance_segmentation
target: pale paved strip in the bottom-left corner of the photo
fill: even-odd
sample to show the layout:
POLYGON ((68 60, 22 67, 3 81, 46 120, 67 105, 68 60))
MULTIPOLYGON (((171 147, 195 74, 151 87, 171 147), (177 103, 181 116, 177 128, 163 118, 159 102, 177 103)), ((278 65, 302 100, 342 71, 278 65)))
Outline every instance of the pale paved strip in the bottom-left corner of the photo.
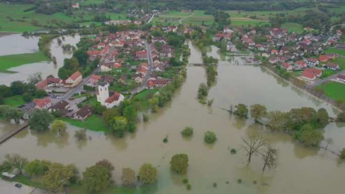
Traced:
POLYGON ((38 189, 32 186, 26 186, 22 184, 21 188, 15 187, 15 184, 18 182, 9 182, 3 179, 0 179, 0 193, 6 194, 48 194, 48 191, 38 189))

